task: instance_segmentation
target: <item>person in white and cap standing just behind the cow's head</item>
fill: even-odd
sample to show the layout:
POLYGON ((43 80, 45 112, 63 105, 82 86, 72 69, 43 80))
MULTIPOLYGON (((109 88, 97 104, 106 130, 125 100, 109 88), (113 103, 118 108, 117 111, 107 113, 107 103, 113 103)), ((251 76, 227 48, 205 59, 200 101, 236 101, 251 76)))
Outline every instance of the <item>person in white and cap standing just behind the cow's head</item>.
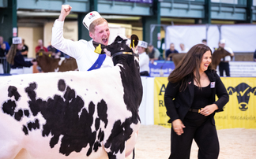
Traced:
POLYGON ((137 52, 139 54, 140 74, 141 76, 149 76, 149 55, 146 54, 148 43, 139 41, 137 44, 137 52))

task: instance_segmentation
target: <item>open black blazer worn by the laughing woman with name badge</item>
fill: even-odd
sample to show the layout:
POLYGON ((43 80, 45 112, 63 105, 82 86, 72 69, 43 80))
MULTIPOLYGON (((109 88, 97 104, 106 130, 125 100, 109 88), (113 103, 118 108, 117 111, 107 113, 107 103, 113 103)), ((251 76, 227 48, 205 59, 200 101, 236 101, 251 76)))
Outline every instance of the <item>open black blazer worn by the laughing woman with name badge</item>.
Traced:
MULTIPOLYGON (((215 87, 211 88, 212 97, 209 99, 210 103, 215 103, 219 109, 210 115, 212 123, 215 124, 214 114, 216 112, 223 111, 224 105, 228 103, 229 96, 224 84, 220 80, 220 76, 216 74, 216 71, 206 70, 211 83, 215 83, 215 87), (218 100, 215 100, 217 95, 218 100)), ((189 111, 194 99, 194 80, 192 77, 188 80, 188 87, 185 91, 179 92, 179 83, 168 83, 164 94, 164 104, 167 109, 167 115, 171 118, 168 122, 180 119, 183 121, 186 113, 189 111)))

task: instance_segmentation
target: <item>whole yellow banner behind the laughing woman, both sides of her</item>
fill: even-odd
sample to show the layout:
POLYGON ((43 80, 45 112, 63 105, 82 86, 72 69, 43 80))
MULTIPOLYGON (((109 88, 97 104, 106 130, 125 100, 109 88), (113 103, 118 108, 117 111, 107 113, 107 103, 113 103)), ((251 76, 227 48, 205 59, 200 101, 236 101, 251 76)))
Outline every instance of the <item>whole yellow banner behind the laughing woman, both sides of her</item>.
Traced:
MULTIPOLYGON (((216 113, 217 129, 255 128, 256 129, 256 78, 221 77, 229 94, 229 102, 224 111, 216 113)), ((166 77, 156 77, 154 81, 154 124, 171 128, 168 124, 164 106, 164 92, 167 87, 166 77)), ((216 98, 217 99, 217 98, 216 98)))

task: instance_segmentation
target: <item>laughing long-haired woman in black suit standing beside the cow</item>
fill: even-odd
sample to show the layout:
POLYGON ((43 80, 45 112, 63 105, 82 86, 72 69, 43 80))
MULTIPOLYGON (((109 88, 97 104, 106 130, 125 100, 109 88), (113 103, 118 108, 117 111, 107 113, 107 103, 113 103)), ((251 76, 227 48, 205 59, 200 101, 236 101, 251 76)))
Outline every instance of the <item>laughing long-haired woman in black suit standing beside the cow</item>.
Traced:
POLYGON ((171 123, 171 159, 190 158, 193 139, 198 144, 199 159, 216 159, 219 155, 213 117, 223 111, 229 98, 211 62, 209 46, 198 44, 168 76, 164 102, 171 118, 168 121, 171 123))

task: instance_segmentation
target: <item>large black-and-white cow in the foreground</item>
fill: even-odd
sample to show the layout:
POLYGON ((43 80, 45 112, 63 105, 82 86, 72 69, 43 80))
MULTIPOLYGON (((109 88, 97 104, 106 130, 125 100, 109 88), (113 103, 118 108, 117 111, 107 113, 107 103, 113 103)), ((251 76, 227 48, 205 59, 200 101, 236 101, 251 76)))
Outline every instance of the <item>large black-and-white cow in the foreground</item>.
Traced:
POLYGON ((2 77, 0 158, 128 156, 141 123, 137 41, 94 43, 111 53, 114 68, 2 77))

